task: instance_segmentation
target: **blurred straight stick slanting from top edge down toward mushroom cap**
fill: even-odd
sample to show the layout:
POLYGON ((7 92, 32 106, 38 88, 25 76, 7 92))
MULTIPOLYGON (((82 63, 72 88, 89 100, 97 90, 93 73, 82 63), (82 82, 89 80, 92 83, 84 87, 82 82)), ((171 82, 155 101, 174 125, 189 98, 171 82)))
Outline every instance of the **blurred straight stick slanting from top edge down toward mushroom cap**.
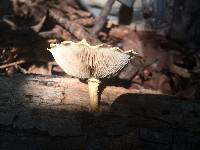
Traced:
POLYGON ((107 0, 98 20, 95 23, 95 26, 92 28, 91 34, 93 36, 97 36, 98 32, 103 28, 106 22, 106 18, 112 9, 112 5, 114 4, 115 0, 107 0))

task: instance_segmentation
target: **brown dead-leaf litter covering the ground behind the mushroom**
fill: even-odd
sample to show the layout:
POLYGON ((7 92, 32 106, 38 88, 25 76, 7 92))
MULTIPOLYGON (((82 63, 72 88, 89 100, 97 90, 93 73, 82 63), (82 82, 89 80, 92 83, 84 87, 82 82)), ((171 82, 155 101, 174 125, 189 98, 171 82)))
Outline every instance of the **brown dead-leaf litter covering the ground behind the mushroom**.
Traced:
POLYGON ((117 75, 119 81, 129 83, 124 82, 124 87, 188 99, 200 97, 200 56, 178 42, 110 21, 93 37, 90 31, 95 18, 73 1, 13 1, 11 6, 8 14, 0 14, 1 75, 64 75, 47 48, 50 43, 85 38, 92 45, 104 42, 139 53, 140 57, 117 75))

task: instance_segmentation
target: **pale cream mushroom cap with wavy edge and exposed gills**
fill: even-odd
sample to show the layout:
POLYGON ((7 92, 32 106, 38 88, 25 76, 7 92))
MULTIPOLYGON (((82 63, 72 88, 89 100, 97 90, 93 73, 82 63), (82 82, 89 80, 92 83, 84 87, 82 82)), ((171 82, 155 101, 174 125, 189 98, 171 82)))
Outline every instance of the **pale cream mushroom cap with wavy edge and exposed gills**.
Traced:
POLYGON ((77 78, 105 78, 121 70, 131 59, 117 47, 89 45, 85 40, 51 44, 49 51, 58 65, 77 78))

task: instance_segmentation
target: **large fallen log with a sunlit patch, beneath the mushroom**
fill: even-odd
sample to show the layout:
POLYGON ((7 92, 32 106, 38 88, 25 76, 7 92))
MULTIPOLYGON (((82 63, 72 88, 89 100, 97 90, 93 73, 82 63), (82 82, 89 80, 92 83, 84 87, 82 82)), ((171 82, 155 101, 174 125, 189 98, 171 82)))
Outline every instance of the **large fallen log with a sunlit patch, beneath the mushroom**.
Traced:
POLYGON ((90 113, 78 79, 0 77, 0 149, 195 150, 200 104, 151 90, 107 86, 90 113))

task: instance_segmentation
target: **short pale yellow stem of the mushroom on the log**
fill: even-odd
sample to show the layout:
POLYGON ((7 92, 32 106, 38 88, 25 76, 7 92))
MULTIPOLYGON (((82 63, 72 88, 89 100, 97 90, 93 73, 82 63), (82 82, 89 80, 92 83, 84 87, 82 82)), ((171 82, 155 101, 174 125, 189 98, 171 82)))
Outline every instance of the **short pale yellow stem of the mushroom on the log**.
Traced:
POLYGON ((95 112, 99 110, 99 89, 98 89, 99 84, 100 84, 100 81, 96 78, 90 78, 88 80, 90 107, 91 107, 91 111, 95 111, 95 112))

